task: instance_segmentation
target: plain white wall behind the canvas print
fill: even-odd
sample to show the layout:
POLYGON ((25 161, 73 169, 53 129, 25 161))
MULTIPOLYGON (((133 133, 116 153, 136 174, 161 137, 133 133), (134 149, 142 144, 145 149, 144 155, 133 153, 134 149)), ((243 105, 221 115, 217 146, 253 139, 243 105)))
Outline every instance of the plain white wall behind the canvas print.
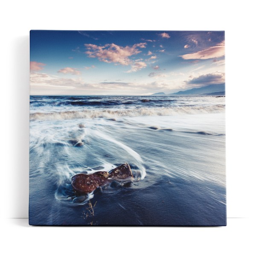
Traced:
POLYGON ((254 217, 256 38, 253 10, 247 0, 233 1, 232 5, 220 0, 9 0, 1 3, 3 217, 28 217, 30 29, 225 30, 227 216, 254 217))

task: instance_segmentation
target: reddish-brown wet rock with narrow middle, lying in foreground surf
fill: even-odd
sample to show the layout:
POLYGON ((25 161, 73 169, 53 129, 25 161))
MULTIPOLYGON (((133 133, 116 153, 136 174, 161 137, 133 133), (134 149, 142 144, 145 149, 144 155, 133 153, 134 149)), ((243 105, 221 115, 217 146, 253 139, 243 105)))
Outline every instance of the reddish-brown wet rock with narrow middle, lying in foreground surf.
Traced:
POLYGON ((92 192, 97 187, 103 186, 111 180, 121 180, 128 177, 133 178, 133 175, 128 163, 124 163, 110 172, 79 173, 71 177, 71 184, 78 194, 85 194, 92 192))

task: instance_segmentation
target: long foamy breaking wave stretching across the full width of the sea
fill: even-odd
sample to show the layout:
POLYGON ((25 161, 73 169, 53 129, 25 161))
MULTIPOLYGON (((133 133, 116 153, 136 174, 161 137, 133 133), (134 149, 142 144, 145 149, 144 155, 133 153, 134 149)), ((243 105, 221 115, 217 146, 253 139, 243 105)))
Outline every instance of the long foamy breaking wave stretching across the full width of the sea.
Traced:
POLYGON ((172 108, 134 108, 134 109, 103 109, 83 111, 60 111, 51 113, 30 113, 30 120, 66 120, 66 119, 92 119, 116 118, 121 116, 173 116, 179 114, 220 113, 225 110, 225 105, 210 106, 183 106, 172 108))

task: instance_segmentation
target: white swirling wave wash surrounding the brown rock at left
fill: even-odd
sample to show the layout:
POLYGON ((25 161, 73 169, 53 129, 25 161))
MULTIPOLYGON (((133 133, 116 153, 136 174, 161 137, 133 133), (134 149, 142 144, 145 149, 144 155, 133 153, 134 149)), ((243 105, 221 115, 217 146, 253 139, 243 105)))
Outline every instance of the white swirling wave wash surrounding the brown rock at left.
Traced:
MULTIPOLYGON (((39 123, 32 125, 30 178, 48 180, 47 190, 48 186, 51 187, 49 184, 54 184, 52 191, 55 191, 55 198, 64 204, 86 204, 94 196, 94 192, 84 196, 74 193, 70 179, 78 173, 109 172, 127 162, 131 166, 134 183, 146 176, 140 154, 102 131, 77 125, 47 124, 47 128, 39 123), (84 144, 77 147, 75 141, 83 141, 84 144)), ((38 184, 39 190, 43 190, 45 185, 38 184)), ((110 186, 111 183, 108 183, 103 189, 110 192, 117 189, 110 186)))

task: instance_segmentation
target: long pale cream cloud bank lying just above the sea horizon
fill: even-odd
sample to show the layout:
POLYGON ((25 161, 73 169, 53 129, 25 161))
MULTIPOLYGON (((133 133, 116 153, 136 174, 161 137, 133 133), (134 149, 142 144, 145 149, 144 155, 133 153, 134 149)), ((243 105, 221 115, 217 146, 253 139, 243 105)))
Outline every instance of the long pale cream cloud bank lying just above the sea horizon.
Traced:
MULTIPOLYGON (((161 77, 160 73, 156 73, 155 78, 161 77), (158 75, 158 76, 157 76, 158 75)), ((52 76, 46 73, 32 72, 31 80, 31 95, 47 95, 55 93, 56 95, 141 95, 152 92, 159 92, 159 90, 173 90, 177 89, 176 81, 163 81, 158 79, 150 83, 145 82, 118 82, 116 81, 102 81, 101 83, 87 83, 79 78, 61 78, 59 76, 52 76)), ((180 84, 178 85, 180 88, 180 84)))

